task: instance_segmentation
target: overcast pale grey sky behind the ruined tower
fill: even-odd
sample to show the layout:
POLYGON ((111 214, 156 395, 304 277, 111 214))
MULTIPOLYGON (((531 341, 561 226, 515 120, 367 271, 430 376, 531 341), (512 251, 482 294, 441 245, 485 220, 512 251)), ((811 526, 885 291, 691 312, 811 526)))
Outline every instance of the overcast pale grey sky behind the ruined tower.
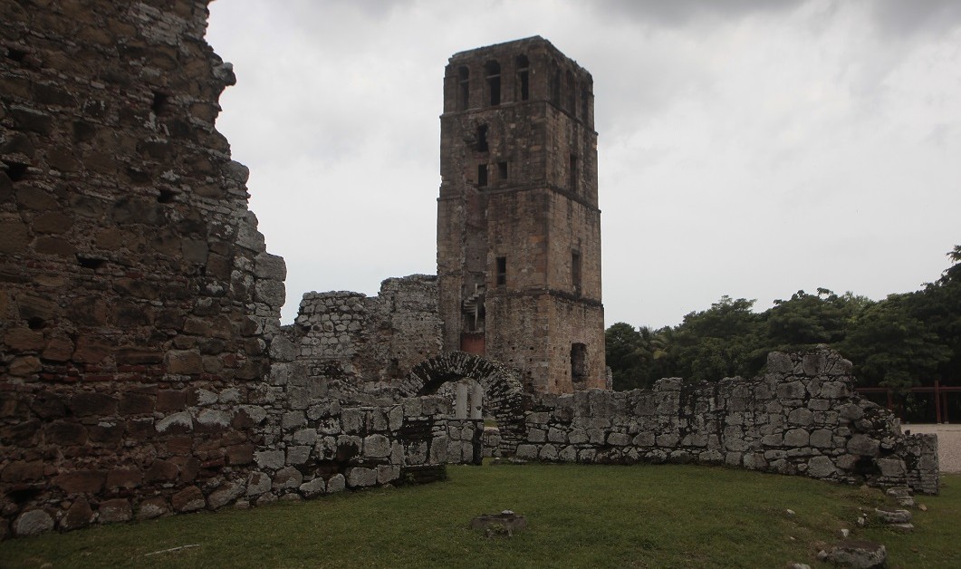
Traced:
POLYGON ((219 0, 217 128, 304 292, 435 273, 444 65, 539 35, 594 76, 606 324, 918 289, 961 244, 961 2, 219 0))

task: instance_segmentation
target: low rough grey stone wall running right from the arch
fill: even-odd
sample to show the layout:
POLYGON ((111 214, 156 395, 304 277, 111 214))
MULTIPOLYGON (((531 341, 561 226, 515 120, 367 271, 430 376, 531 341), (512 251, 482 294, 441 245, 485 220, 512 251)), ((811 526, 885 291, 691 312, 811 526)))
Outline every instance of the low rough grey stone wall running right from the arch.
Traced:
POLYGON ((773 353, 767 374, 719 383, 535 399, 518 458, 701 462, 938 492, 937 437, 900 433, 852 392, 850 361, 828 350, 773 353))

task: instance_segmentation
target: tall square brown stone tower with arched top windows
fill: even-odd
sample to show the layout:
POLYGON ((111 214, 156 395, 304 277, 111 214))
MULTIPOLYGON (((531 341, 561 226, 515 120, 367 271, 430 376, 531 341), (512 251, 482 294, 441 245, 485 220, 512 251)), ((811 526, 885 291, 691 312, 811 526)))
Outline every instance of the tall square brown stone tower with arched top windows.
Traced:
POLYGON ((444 74, 444 349, 518 368, 536 392, 605 385, 592 85, 543 37, 458 53, 444 74))

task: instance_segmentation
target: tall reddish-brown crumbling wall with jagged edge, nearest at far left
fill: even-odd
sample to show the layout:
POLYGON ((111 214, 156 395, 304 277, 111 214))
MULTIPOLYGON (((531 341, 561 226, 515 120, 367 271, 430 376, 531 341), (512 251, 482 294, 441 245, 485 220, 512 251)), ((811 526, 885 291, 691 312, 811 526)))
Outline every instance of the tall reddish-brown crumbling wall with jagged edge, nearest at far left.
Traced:
POLYGON ((207 17, 0 3, 0 537, 204 507, 253 460, 284 265, 207 17))

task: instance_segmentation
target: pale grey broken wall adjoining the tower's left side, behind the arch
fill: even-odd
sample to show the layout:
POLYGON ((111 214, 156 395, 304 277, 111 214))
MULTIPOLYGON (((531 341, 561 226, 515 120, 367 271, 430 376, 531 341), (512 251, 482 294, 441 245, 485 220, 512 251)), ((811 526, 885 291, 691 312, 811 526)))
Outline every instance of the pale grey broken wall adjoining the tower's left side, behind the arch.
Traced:
POLYGON ((311 378, 342 390, 362 390, 407 376, 440 354, 437 278, 386 279, 380 294, 309 292, 288 337, 311 378))

